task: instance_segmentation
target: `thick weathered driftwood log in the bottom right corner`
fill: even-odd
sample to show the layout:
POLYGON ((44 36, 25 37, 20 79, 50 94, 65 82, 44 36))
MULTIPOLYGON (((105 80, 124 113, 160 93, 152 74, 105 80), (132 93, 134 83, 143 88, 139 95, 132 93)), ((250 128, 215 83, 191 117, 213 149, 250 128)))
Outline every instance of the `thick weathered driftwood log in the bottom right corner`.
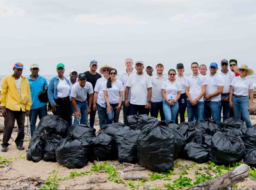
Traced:
POLYGON ((224 173, 220 177, 214 178, 202 184, 188 187, 188 189, 232 189, 238 182, 243 182, 249 176, 249 166, 241 164, 237 168, 224 173))

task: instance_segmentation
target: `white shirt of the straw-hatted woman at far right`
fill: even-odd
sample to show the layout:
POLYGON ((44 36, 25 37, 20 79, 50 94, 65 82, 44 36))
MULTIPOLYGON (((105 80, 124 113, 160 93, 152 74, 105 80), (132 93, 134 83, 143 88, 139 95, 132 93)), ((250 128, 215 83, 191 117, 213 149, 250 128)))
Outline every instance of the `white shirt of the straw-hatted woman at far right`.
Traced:
POLYGON ((241 78, 241 76, 234 77, 231 85, 234 87, 234 93, 239 96, 248 96, 248 90, 254 89, 252 78, 246 76, 241 78))

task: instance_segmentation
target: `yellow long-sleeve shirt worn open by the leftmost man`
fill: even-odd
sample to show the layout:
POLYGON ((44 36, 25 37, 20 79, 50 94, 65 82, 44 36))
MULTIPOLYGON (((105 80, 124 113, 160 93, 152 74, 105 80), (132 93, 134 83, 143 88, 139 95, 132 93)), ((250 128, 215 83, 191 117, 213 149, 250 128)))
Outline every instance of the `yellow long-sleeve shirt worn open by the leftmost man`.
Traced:
POLYGON ((29 82, 27 78, 23 76, 21 76, 20 94, 22 98, 21 101, 13 75, 4 77, 1 82, 1 106, 5 106, 5 108, 12 111, 20 111, 20 108, 22 112, 30 110, 32 100, 29 82))

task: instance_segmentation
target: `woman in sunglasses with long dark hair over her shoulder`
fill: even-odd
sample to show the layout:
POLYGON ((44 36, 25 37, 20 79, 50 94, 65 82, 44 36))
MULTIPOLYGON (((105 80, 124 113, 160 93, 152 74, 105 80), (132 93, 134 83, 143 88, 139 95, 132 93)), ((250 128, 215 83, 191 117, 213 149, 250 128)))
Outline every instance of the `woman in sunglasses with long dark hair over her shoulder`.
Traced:
POLYGON ((114 122, 118 122, 123 102, 124 87, 122 82, 116 79, 116 75, 116 69, 110 69, 110 78, 103 85, 104 98, 107 104, 107 124, 113 123, 113 120, 114 122))

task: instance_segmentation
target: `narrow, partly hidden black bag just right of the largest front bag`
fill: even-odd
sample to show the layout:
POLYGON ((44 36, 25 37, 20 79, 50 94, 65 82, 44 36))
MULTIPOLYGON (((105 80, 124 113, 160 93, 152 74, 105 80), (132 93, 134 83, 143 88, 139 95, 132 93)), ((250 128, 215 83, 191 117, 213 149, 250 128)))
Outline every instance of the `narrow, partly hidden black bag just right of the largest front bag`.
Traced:
POLYGON ((170 124, 168 124, 168 128, 170 129, 171 133, 174 135, 173 158, 177 159, 179 157, 180 151, 182 151, 186 146, 186 140, 184 136, 182 136, 177 129, 170 127, 170 124))

